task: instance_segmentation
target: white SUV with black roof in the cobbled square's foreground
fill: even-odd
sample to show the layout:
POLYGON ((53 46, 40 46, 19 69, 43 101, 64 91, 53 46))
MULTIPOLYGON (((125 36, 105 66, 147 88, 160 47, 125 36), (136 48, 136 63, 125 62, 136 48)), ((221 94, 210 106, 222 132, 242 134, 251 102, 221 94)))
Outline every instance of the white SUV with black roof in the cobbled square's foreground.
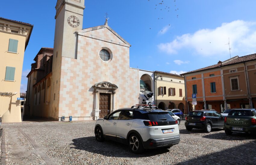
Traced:
POLYGON ((177 120, 156 108, 123 108, 98 119, 95 137, 127 144, 133 153, 171 146, 180 142, 177 120))

